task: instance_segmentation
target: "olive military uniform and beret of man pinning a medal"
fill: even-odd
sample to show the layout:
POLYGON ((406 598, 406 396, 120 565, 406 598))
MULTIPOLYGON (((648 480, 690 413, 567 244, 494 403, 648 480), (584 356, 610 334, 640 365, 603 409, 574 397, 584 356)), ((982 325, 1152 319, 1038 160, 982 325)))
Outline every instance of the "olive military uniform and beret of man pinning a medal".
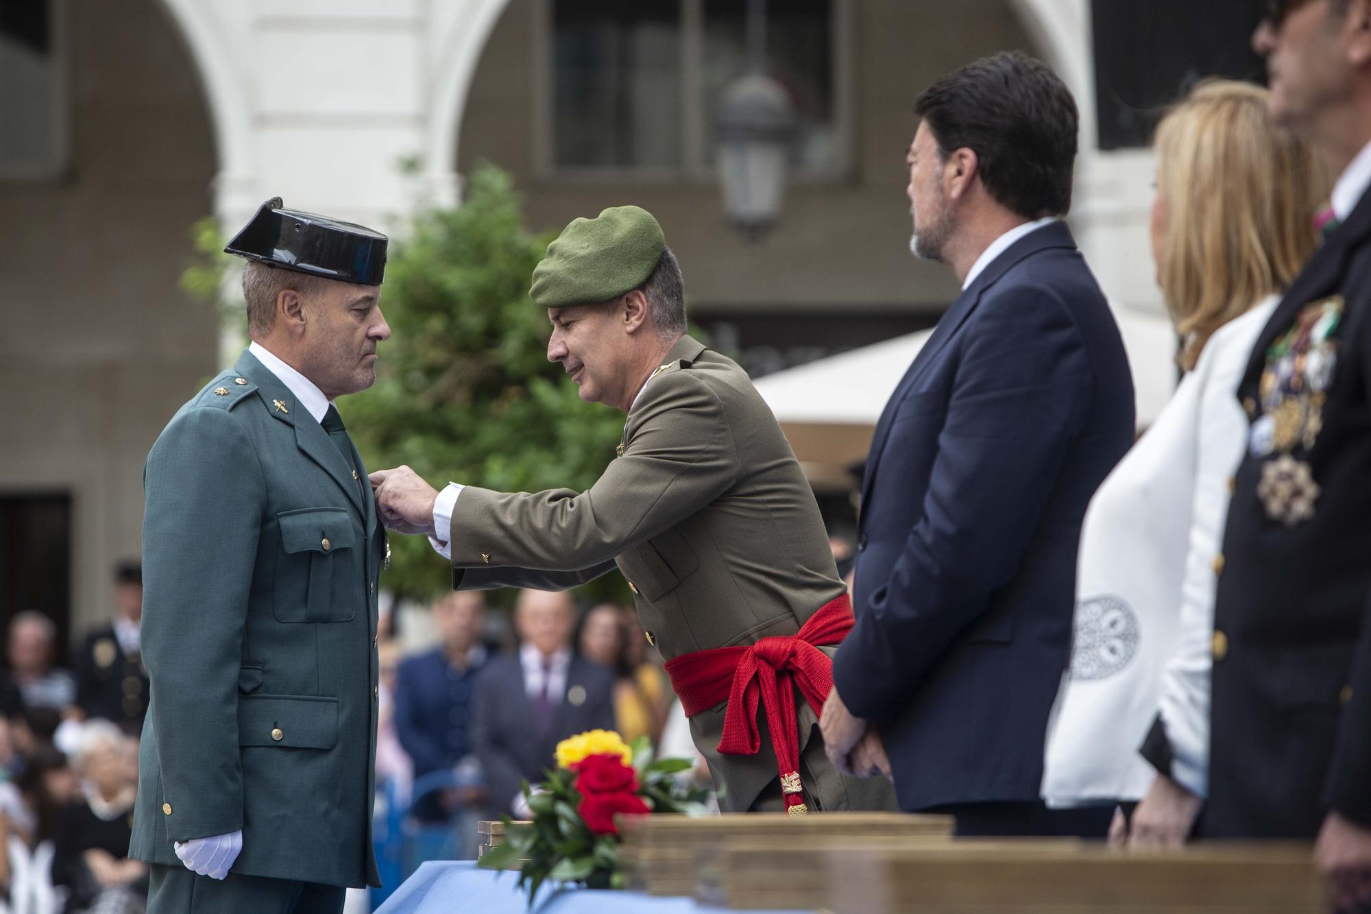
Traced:
MULTIPOLYGON (((659 239, 655 220, 638 207, 577 220, 539 266, 535 303, 610 301, 639 287, 665 251, 659 239)), ((451 530, 439 534, 459 587, 569 587, 617 567, 666 660, 794 635, 846 593, 813 490, 771 408, 736 362, 690 336, 643 387, 618 456, 590 490, 468 486, 451 530)), ((845 777, 828 763, 814 712, 798 697, 795 705, 809 808, 895 808, 884 778, 845 777)), ((765 715, 758 753, 724 755, 724 711, 720 704, 691 718, 720 806, 780 810, 765 715)))

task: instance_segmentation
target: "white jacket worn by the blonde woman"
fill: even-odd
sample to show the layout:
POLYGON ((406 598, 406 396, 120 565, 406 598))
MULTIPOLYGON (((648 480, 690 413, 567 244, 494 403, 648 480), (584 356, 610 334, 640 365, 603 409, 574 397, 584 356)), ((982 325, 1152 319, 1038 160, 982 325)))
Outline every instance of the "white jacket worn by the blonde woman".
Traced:
POLYGON ((1047 725, 1052 807, 1139 800, 1157 708, 1172 773, 1208 788, 1215 560, 1248 417, 1237 388, 1272 295, 1219 328, 1148 434, 1101 483, 1080 531, 1071 670, 1047 725))

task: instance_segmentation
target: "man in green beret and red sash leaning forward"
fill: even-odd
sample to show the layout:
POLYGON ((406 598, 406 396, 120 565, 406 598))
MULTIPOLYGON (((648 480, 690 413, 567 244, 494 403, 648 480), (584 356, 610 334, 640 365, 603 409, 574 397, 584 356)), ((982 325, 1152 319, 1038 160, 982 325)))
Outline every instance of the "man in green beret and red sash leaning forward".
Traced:
MULTIPOLYGON (((573 221, 533 273, 547 357, 580 397, 628 413, 587 491, 435 491, 373 473, 383 519, 435 534, 462 587, 570 587, 624 572, 729 811, 894 808, 884 778, 840 774, 818 712, 851 627, 814 494, 733 361, 686 335, 680 268, 657 220, 573 221)), ((868 745, 879 752, 879 744, 868 745)))

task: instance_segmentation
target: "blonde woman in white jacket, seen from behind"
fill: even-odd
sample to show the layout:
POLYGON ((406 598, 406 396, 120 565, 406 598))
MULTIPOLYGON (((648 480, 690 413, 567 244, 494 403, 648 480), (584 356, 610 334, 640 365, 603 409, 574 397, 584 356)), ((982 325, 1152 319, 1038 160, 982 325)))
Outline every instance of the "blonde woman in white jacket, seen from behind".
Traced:
MULTIPOLYGON (((1179 843, 1206 789, 1215 565, 1248 428, 1234 391, 1278 292, 1313 253, 1328 188, 1265 97, 1206 82, 1157 128, 1152 253, 1187 373, 1086 512, 1043 774, 1047 804, 1094 810, 1098 837, 1116 807, 1148 795, 1137 840, 1179 843), (1149 752, 1157 767, 1139 755, 1145 738, 1164 747, 1149 752)), ((1123 828, 1120 817, 1116 839, 1123 828)))

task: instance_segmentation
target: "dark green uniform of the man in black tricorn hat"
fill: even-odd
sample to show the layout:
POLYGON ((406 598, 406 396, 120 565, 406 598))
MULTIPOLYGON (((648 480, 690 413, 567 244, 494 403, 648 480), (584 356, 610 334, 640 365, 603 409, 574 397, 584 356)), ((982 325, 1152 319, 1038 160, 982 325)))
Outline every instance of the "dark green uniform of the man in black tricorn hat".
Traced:
MULTIPOLYGON (((374 635, 385 535, 351 452, 244 353, 148 456, 151 704, 130 856, 203 882, 203 892, 165 885, 169 899, 182 896, 174 910, 191 910, 192 895, 196 911, 267 910, 273 880, 378 885, 374 635), (237 829, 243 852, 223 882, 211 887, 175 856, 175 841, 237 829)), ((304 891, 287 888, 293 899, 304 891)))

